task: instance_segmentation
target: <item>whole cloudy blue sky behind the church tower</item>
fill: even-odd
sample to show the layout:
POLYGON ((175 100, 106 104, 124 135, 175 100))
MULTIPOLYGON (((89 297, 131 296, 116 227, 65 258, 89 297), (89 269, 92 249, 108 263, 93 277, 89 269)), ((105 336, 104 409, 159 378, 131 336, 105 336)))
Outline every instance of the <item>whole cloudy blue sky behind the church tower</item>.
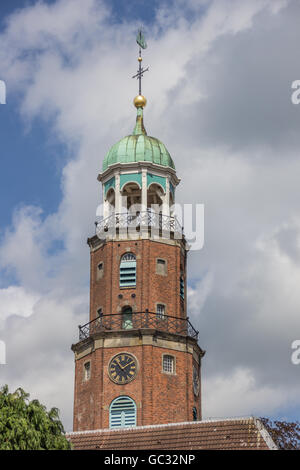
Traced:
POLYGON ((175 162, 177 202, 205 205, 188 261, 203 417, 299 420, 298 0, 2 0, 0 17, 0 383, 72 429, 97 175, 135 124, 142 24, 146 129, 175 162))

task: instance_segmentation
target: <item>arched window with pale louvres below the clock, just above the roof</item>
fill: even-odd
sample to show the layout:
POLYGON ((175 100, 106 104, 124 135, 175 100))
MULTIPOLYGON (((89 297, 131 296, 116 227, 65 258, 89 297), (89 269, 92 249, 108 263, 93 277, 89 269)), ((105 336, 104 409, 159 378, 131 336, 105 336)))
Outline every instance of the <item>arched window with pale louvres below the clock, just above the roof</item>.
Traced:
POLYGON ((121 396, 109 407, 109 427, 126 428, 136 426, 136 404, 132 398, 121 396))

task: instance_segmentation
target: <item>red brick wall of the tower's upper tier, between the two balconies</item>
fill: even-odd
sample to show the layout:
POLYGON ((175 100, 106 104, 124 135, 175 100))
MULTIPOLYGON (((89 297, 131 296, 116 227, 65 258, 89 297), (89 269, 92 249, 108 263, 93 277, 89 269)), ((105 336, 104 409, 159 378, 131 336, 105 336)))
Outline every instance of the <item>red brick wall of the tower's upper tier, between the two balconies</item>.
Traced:
POLYGON ((158 243, 152 240, 110 241, 97 251, 91 251, 90 320, 102 307, 104 314, 118 313, 129 305, 133 311, 148 309, 156 311, 156 303, 166 304, 166 314, 186 316, 186 300, 182 302, 180 292, 180 265, 185 275, 185 251, 180 246, 158 243), (120 260, 130 251, 137 257, 136 288, 119 287, 120 260), (156 259, 167 261, 167 275, 156 273, 156 259), (97 280, 97 267, 104 263, 103 277, 97 280), (118 295, 123 298, 119 299, 118 295), (135 298, 131 295, 135 294, 135 298))

